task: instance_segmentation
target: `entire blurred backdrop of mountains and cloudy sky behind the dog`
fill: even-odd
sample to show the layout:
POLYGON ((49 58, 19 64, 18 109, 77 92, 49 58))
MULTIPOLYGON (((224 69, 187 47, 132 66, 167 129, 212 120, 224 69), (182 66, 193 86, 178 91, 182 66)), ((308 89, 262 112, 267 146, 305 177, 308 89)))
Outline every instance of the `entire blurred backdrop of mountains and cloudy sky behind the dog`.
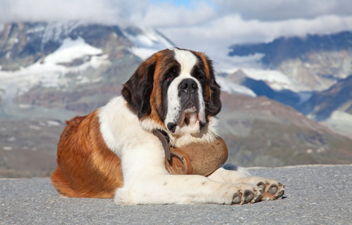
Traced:
POLYGON ((228 162, 352 163, 352 3, 35 1, 0 3, 0 177, 49 176, 65 120, 172 46, 214 60, 228 162))

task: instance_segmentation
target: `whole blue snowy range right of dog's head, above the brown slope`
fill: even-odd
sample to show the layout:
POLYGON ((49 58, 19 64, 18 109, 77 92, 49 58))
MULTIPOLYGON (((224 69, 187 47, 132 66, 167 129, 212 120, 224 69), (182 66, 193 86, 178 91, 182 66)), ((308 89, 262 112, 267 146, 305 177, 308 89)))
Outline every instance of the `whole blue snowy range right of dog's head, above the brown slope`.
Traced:
POLYGON ((224 76, 298 109, 310 118, 352 138, 349 108, 352 74, 352 32, 280 37, 269 43, 236 44, 229 56, 261 54, 261 68, 234 68, 224 76), (348 78, 347 78, 348 77, 348 78), (342 86, 344 86, 342 88, 342 86))

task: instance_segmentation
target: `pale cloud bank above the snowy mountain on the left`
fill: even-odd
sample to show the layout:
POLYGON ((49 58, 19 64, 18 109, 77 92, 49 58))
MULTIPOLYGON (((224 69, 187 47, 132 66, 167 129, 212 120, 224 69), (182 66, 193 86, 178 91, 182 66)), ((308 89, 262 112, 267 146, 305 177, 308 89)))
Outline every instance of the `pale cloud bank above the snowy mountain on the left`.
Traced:
POLYGON ((13 21, 67 21, 123 23, 142 17, 148 0, 2 0, 0 23, 13 21))

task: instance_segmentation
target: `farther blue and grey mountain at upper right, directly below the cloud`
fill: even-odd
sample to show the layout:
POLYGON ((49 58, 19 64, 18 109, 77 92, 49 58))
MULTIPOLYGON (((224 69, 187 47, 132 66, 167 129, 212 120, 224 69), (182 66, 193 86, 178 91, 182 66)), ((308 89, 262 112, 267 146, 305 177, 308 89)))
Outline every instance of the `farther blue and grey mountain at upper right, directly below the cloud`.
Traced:
MULTIPOLYGON (((286 89, 320 91, 352 74, 352 32, 279 37, 269 43, 230 46, 229 56, 253 54, 262 55, 259 61, 263 68, 278 71, 280 77, 285 77, 286 89)), ((265 73, 274 75, 270 70, 265 73)), ((250 76, 251 73, 248 71, 250 76)))

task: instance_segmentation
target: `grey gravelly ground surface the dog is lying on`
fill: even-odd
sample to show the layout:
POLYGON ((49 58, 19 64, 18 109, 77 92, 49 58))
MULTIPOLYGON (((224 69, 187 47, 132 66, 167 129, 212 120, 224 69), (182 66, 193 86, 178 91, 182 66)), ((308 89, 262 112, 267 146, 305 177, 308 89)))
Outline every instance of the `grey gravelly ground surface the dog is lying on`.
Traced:
POLYGON ((60 197, 49 178, 0 179, 1 224, 350 224, 352 165, 251 168, 286 184, 282 199, 246 205, 135 205, 60 197))

